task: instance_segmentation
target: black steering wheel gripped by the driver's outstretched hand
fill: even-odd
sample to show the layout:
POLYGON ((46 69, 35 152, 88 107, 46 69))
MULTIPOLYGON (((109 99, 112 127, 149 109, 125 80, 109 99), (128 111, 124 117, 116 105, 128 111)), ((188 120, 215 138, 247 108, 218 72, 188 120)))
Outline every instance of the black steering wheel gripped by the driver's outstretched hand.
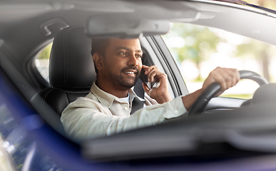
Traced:
MULTIPOLYGON (((268 81, 260 76, 258 73, 252 71, 239 71, 240 79, 250 79, 252 81, 257 82, 260 86, 268 84, 268 81)), ((211 98, 215 96, 216 93, 220 90, 219 83, 213 83, 208 88, 206 88, 203 93, 195 100, 195 103, 190 108, 188 116, 190 115, 200 115, 206 107, 207 103, 211 98)))

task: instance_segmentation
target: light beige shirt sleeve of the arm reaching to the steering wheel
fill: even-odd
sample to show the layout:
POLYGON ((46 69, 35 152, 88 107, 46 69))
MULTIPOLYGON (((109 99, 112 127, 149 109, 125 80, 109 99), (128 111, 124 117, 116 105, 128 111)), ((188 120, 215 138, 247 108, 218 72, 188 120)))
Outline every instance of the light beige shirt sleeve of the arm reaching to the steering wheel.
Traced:
POLYGON ((81 98, 67 106, 61 115, 61 123, 70 138, 81 141, 155 125, 185 113, 187 110, 181 97, 141 108, 128 117, 112 115, 108 108, 100 103, 81 98))

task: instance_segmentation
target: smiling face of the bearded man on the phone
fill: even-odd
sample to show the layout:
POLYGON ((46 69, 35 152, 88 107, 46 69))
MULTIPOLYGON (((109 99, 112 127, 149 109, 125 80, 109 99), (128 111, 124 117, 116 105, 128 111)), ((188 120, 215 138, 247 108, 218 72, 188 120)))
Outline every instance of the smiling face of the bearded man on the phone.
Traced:
POLYGON ((138 38, 112 38, 103 54, 103 77, 112 86, 128 90, 138 80, 142 68, 142 55, 138 38))

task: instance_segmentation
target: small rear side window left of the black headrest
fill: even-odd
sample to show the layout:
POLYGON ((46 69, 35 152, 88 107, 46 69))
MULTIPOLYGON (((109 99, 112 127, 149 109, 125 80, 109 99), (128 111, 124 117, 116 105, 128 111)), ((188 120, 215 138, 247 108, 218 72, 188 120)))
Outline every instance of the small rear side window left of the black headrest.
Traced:
POLYGON ((49 83, 49 58, 51 53, 53 42, 49 43, 45 48, 42 48, 36 55, 36 68, 41 76, 49 83))

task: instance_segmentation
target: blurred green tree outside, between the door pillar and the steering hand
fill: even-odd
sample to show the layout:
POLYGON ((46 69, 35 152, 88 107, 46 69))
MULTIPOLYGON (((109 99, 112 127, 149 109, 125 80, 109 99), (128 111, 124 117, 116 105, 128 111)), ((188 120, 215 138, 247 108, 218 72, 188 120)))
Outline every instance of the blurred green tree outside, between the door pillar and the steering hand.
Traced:
MULTIPOLYGON (((195 26, 191 24, 172 24, 170 34, 166 34, 163 37, 168 40, 168 46, 170 46, 170 52, 173 53, 176 61, 181 63, 185 59, 191 59, 199 69, 199 65, 202 61, 209 58, 210 54, 216 50, 217 43, 223 41, 222 38, 216 36, 214 31, 211 31, 208 27, 195 26), (170 43, 171 41, 177 41, 173 39, 174 36, 180 36, 182 38, 183 46, 180 47, 179 42, 170 43)), ((178 39, 181 41, 181 39, 178 39)), ((200 81, 200 74, 198 81, 200 81)))

